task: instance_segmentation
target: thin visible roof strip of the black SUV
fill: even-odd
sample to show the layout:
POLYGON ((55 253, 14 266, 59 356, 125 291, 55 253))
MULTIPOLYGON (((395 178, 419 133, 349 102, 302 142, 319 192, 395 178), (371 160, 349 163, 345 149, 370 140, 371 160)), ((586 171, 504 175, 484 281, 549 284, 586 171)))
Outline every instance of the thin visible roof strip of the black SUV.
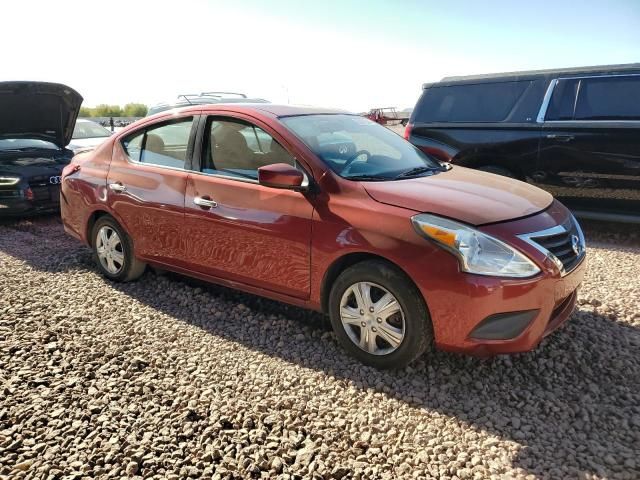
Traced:
POLYGON ((590 75, 590 74, 617 74, 640 72, 640 63, 626 63, 619 65, 596 65, 591 67, 572 68, 552 68, 546 70, 526 70, 521 72, 487 73, 480 75, 464 75, 444 77, 439 82, 423 84, 422 88, 434 85, 462 85, 471 83, 491 83, 500 81, 534 80, 542 77, 557 77, 567 75, 590 75))

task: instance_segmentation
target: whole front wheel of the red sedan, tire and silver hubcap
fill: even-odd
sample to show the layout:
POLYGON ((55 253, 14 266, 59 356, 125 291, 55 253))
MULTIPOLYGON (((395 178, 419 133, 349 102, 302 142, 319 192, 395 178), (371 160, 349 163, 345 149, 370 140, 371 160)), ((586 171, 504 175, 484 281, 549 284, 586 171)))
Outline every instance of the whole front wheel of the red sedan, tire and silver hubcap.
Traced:
POLYGON ((392 265, 358 263, 336 279, 329 298, 331 324, 341 345, 376 368, 401 368, 431 343, 422 295, 392 265))

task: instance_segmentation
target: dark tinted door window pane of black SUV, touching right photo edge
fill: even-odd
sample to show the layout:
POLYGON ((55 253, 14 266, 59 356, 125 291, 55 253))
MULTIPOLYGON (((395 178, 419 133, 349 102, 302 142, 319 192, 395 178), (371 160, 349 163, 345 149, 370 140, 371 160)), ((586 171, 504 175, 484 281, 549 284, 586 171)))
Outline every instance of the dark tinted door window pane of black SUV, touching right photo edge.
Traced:
POLYGON ((640 76, 584 78, 576 120, 640 120, 640 76))

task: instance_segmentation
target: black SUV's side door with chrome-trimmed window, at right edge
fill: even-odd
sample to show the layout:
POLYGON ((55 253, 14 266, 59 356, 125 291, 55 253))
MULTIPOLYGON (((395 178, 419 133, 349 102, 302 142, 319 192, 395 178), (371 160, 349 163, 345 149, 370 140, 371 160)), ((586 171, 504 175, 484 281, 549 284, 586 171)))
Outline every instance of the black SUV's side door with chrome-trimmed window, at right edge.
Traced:
POLYGON ((637 99, 640 75, 557 80, 545 115, 536 182, 583 215, 638 215, 637 99))

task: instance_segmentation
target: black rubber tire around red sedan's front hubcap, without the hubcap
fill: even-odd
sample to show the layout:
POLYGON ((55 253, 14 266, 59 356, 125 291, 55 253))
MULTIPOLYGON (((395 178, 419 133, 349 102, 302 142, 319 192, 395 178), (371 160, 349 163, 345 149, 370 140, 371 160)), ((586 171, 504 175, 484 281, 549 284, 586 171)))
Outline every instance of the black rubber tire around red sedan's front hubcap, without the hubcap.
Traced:
MULTIPOLYGON (((433 342, 431 318, 422 294, 404 272, 381 260, 357 263, 338 276, 329 294, 329 317, 338 341, 345 350, 362 363, 380 369, 402 368, 408 365, 422 355, 433 342), (346 328, 353 329, 353 327, 345 327, 342 323, 340 317, 342 297, 352 285, 358 282, 370 282, 383 287, 396 298, 402 308, 404 338, 399 346, 388 354, 377 355, 360 348, 346 331, 346 328)), ((376 341, 379 342, 379 340, 376 341)))

